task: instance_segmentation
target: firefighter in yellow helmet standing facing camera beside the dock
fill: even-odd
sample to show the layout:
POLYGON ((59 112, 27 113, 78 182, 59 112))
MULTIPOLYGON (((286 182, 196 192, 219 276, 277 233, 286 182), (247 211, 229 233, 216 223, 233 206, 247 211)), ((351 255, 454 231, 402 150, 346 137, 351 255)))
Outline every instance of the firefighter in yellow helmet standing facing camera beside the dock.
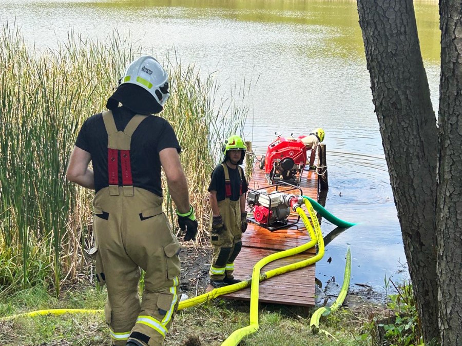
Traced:
POLYGON ((223 145, 225 158, 215 167, 208 187, 212 212, 210 242, 213 256, 210 284, 215 288, 240 282, 233 276, 234 260, 241 251, 242 233, 247 229, 245 212, 245 180, 242 162, 245 144, 241 137, 230 136, 223 145))

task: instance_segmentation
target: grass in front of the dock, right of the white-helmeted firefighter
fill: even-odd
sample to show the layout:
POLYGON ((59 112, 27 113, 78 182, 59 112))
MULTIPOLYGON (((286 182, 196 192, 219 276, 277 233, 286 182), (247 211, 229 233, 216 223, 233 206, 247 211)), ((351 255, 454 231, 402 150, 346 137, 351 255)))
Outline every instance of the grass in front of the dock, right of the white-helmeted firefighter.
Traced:
MULTIPOLYGON (((197 337, 202 345, 220 345, 227 336, 249 323, 248 303, 236 301, 211 301, 201 306, 181 310, 166 345, 184 344, 184 339, 197 337)), ((245 346, 353 346, 357 345, 353 329, 344 329, 345 315, 332 314, 338 318, 330 332, 335 339, 313 335, 309 319, 301 317, 304 311, 297 307, 262 304, 259 330, 244 338, 245 346)))

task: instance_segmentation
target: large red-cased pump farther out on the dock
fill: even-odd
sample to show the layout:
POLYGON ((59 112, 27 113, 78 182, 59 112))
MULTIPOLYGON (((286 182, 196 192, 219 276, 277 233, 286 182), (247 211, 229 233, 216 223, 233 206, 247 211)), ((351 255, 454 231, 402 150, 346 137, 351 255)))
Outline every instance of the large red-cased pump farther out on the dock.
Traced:
POLYGON ((265 169, 268 184, 278 181, 300 185, 303 168, 306 165, 306 147, 299 138, 276 138, 260 161, 265 169))

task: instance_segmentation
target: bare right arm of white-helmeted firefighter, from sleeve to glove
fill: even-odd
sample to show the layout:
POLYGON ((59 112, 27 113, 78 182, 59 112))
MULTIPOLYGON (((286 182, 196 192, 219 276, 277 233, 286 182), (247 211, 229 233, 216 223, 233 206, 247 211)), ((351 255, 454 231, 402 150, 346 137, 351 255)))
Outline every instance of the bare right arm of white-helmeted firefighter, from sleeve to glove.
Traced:
POLYGON ((180 156, 177 149, 166 148, 159 152, 161 165, 167 177, 168 190, 177 206, 178 212, 189 212, 189 192, 186 177, 181 167, 180 156))

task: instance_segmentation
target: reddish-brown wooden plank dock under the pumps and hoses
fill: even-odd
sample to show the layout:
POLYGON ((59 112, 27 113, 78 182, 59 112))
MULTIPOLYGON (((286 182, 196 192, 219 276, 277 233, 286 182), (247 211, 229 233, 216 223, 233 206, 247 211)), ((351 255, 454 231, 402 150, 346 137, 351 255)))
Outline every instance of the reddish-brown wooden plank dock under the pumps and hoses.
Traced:
MULTIPOLYGON (((264 170, 259 169, 258 162, 253 168, 252 177, 248 185, 249 188, 254 190, 268 186, 264 170)), ((304 171, 300 188, 303 190, 305 196, 310 196, 317 200, 318 175, 316 172, 304 171)), ((268 188, 267 191, 275 191, 275 188, 268 188)), ((279 191, 284 191, 284 189, 279 188, 279 191)), ((300 192, 294 190, 288 193, 298 195, 300 192)), ((297 214, 292 212, 290 218, 296 220, 297 214)), ((252 269, 255 263, 263 257, 281 250, 303 245, 310 240, 311 237, 301 220, 299 220, 297 225, 274 232, 270 232, 255 223, 249 222, 247 231, 242 235, 242 250, 234 262, 234 276, 242 280, 249 279, 252 277, 252 269)), ((312 248, 295 256, 278 259, 263 267, 261 273, 313 257, 314 255, 315 248, 312 248)), ((313 307, 315 305, 315 274, 315 264, 312 264, 311 266, 262 281, 260 282, 259 301, 313 307)), ((251 289, 246 288, 221 297, 226 299, 250 300, 250 292, 251 289)))

